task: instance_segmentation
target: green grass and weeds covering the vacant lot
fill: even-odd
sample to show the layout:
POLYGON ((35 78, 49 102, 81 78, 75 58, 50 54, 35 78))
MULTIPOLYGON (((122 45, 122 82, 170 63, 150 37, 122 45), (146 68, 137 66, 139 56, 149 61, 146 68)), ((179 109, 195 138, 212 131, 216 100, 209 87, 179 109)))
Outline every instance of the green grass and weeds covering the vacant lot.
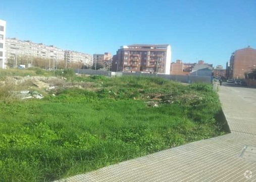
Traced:
POLYGON ((225 134, 211 85, 144 77, 71 81, 97 89, 0 102, 2 180, 51 181, 225 134), (161 99, 159 107, 148 107, 151 99, 161 99))

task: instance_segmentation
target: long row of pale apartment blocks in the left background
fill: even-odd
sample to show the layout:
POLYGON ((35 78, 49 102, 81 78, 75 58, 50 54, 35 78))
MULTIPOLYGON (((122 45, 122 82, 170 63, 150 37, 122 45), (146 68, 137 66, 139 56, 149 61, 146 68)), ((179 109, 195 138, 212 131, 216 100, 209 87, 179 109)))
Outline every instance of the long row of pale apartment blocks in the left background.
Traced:
POLYGON ((17 59, 18 56, 27 56, 31 59, 41 57, 56 61, 66 60, 67 62, 82 62, 84 64, 90 64, 92 61, 92 56, 86 53, 63 50, 53 45, 46 46, 42 43, 21 41, 17 38, 7 38, 6 58, 17 59))

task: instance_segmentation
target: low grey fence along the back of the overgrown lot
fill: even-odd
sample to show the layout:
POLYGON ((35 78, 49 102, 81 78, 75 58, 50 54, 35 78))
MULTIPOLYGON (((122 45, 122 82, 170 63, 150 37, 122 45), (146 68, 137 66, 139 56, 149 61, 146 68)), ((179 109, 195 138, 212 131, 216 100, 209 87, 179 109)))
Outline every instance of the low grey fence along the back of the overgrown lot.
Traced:
POLYGON ((148 77, 161 77, 169 80, 179 81, 183 83, 193 82, 212 82, 212 76, 199 76, 199 75, 169 75, 169 74, 155 74, 155 73, 132 73, 132 72, 112 72, 108 70, 94 70, 94 69, 74 69, 75 73, 90 74, 90 75, 104 75, 104 76, 148 76, 148 77))

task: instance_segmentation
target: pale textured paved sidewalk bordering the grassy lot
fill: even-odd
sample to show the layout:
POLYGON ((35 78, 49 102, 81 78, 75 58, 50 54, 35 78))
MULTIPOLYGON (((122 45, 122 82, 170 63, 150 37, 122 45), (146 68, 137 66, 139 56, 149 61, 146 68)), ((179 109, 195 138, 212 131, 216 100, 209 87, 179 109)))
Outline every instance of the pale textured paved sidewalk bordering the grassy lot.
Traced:
POLYGON ((219 96, 230 134, 59 181, 256 181, 256 89, 224 84, 219 96))

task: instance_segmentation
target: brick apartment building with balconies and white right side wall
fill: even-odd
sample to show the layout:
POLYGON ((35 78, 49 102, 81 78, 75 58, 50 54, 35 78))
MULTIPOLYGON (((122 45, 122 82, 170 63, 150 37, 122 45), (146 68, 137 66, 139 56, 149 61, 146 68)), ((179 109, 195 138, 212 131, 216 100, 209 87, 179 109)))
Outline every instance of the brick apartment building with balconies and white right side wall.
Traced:
POLYGON ((113 56, 113 71, 170 74, 171 46, 133 44, 121 46, 113 56))

